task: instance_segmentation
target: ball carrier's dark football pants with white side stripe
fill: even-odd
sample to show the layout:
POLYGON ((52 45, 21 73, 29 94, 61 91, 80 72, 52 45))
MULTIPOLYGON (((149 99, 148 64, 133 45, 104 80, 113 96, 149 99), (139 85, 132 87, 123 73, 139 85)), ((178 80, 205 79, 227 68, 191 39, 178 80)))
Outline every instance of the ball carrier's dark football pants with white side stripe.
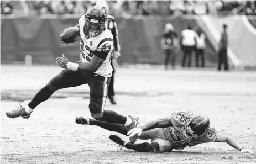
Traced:
POLYGON ((92 72, 62 70, 59 75, 50 80, 47 86, 51 91, 56 91, 88 84, 90 87, 89 109, 92 114, 97 114, 104 110, 110 80, 111 77, 103 77, 92 72))

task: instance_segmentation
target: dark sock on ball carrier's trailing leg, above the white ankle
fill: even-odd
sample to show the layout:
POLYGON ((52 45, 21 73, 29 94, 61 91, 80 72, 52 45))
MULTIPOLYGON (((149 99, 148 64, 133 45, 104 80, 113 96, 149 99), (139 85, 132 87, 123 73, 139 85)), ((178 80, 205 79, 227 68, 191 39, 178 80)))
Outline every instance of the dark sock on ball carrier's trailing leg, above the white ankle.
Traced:
POLYGON ((106 121, 108 123, 118 123, 124 125, 127 121, 127 117, 117 114, 112 110, 104 110, 102 121, 106 121))

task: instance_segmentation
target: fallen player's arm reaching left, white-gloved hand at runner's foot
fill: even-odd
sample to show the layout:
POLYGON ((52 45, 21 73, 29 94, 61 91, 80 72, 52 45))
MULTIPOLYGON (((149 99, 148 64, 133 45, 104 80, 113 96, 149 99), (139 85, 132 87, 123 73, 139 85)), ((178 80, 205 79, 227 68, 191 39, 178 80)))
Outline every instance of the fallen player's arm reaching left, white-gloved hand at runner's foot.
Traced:
POLYGON ((163 118, 158 120, 149 121, 145 125, 141 126, 140 128, 133 128, 130 131, 128 131, 127 135, 129 137, 133 137, 135 135, 140 136, 142 131, 151 130, 154 128, 167 128, 173 126, 173 123, 171 123, 171 118, 163 118))

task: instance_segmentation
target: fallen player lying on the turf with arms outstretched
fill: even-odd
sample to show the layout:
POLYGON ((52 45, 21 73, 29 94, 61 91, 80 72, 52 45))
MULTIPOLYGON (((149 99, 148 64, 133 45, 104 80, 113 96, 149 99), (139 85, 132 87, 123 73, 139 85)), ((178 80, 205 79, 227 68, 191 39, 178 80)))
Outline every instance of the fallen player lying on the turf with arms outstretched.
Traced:
POLYGON ((216 132, 210 125, 210 120, 203 114, 193 114, 187 110, 175 110, 170 117, 138 124, 126 134, 127 128, 121 124, 103 123, 81 115, 75 118, 77 124, 97 125, 101 128, 117 131, 129 135, 130 141, 126 141, 118 135, 110 135, 109 138, 119 147, 126 147, 139 152, 171 152, 173 149, 182 150, 187 146, 195 146, 207 142, 226 142, 241 152, 254 154, 252 150, 243 148, 233 137, 216 132), (111 128, 109 128, 111 127, 111 128), (137 139, 148 140, 151 143, 134 143, 137 139))

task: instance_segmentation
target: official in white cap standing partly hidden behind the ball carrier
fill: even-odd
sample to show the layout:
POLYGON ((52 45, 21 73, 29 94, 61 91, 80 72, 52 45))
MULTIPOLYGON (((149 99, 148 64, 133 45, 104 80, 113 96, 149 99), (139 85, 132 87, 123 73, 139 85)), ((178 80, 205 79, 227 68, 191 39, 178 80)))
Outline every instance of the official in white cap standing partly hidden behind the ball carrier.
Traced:
MULTIPOLYGON (((109 8, 108 8, 107 1, 98 0, 96 1, 96 5, 104 7, 108 13, 109 8)), ((108 22, 106 23, 106 28, 111 31, 113 35, 113 40, 114 40, 114 51, 112 52, 112 55, 111 55, 111 66, 113 67, 113 72, 112 72, 111 81, 108 86, 108 98, 112 104, 117 104, 116 99, 114 98, 114 94, 115 94, 114 93, 114 73, 116 72, 116 70, 114 69, 114 66, 113 66, 113 59, 118 59, 121 56, 120 45, 119 45, 116 20, 111 15, 108 15, 107 17, 108 17, 108 22)))

